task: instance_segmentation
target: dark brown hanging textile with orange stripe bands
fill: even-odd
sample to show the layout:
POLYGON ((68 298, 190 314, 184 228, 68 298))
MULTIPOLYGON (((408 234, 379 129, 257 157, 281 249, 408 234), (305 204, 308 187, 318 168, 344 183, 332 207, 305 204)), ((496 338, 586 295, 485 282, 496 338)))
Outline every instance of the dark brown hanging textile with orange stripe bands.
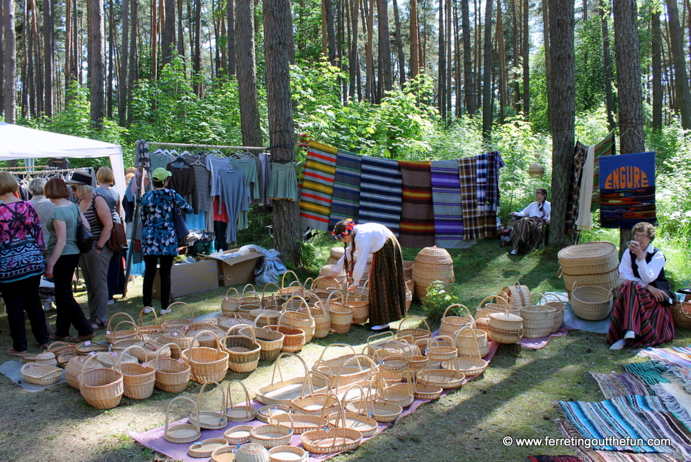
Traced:
POLYGON ((430 163, 401 160, 398 165, 403 181, 398 241, 403 247, 432 247, 435 221, 430 163))

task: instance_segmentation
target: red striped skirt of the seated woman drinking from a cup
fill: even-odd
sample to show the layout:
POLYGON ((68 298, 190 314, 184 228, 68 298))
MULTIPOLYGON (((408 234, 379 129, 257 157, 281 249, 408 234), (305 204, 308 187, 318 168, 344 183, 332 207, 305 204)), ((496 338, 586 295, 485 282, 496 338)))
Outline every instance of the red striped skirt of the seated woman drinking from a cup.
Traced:
POLYGON ((634 281, 624 282, 617 289, 607 342, 621 340, 628 330, 636 332, 636 338, 627 343, 633 348, 659 345, 674 338, 670 308, 663 307, 650 292, 634 281))

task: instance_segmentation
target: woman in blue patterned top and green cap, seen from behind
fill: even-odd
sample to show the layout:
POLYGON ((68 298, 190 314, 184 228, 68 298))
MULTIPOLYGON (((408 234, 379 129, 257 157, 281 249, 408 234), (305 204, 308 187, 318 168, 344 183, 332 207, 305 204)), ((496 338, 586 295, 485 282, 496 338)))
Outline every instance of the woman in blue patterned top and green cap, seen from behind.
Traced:
POLYGON ((171 173, 166 169, 158 168, 153 171, 153 190, 142 197, 140 215, 144 226, 142 227, 142 256, 144 258, 144 307, 151 307, 151 294, 153 292, 153 278, 156 276, 158 264, 160 264, 161 280, 161 314, 169 313, 171 296, 171 268, 173 258, 178 255, 178 240, 187 236, 178 236, 176 233, 175 209, 192 213, 192 207, 184 202, 182 197, 167 189, 168 179, 171 173))

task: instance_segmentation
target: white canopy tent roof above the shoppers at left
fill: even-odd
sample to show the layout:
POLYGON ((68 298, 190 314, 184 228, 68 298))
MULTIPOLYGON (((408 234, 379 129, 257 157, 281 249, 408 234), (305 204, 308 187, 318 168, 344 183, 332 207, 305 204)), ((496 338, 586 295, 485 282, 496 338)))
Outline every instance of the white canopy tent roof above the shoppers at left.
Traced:
POLYGON ((0 122, 0 160, 106 156, 111 160, 115 189, 122 197, 126 186, 125 174, 122 149, 117 144, 0 122))

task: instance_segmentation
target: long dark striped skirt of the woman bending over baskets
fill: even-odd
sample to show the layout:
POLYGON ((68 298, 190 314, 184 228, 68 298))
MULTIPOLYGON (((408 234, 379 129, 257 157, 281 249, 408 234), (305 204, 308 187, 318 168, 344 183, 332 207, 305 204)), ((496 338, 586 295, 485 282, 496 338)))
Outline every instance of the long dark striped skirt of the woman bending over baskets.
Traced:
POLYGON ((398 240, 390 236, 372 255, 370 267, 370 324, 383 325, 406 314, 406 280, 398 240))

